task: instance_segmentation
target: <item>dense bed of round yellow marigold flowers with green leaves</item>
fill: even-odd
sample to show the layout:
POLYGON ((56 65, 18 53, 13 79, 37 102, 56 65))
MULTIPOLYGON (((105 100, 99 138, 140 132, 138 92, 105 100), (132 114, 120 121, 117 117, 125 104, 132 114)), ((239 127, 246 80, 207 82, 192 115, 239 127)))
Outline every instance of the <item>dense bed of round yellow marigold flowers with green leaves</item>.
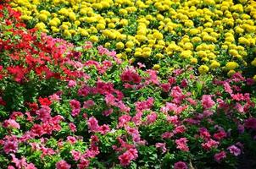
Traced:
POLYGON ((175 56, 202 74, 256 66, 256 57, 248 57, 256 44, 253 0, 13 0, 11 6, 39 30, 79 36, 123 58, 175 56))

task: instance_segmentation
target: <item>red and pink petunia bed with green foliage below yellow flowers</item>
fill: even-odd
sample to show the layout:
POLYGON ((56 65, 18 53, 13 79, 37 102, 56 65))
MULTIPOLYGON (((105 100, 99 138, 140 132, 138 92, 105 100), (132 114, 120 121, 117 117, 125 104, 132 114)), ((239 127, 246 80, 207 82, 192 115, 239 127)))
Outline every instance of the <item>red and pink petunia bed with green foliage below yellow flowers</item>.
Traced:
POLYGON ((1 167, 232 168, 255 156, 253 79, 134 67, 0 8, 1 167))

